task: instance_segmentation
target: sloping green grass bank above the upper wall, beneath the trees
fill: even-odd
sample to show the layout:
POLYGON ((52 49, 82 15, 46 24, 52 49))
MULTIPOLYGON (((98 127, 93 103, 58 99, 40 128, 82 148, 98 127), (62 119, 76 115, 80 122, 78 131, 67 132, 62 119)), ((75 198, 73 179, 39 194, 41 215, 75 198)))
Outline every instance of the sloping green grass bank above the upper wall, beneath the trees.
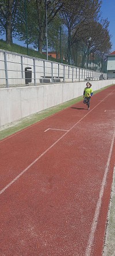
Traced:
MULTIPOLYGON (((11 52, 16 52, 17 54, 23 54, 27 55, 27 49, 26 47, 22 47, 18 44, 6 44, 6 41, 0 40, 0 49, 4 49, 6 51, 11 51, 11 52)), ((34 51, 34 49, 28 49, 28 55, 35 57, 35 58, 40 58, 40 59, 47 59, 47 56, 45 54, 40 54, 37 51, 34 51)), ((51 60, 53 62, 60 62, 60 60, 56 60, 52 58, 51 56, 48 56, 48 60, 51 60)), ((66 63, 66 62, 64 62, 66 63)))

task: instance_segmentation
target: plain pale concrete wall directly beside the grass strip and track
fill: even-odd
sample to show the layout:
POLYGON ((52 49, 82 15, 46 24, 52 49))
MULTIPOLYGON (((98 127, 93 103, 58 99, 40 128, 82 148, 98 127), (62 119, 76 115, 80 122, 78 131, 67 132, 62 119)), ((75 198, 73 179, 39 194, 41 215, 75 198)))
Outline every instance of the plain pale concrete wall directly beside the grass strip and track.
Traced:
MULTIPOLYGON (((115 83, 93 81, 93 90, 115 83)), ((85 82, 0 89, 0 127, 83 95, 85 82)))

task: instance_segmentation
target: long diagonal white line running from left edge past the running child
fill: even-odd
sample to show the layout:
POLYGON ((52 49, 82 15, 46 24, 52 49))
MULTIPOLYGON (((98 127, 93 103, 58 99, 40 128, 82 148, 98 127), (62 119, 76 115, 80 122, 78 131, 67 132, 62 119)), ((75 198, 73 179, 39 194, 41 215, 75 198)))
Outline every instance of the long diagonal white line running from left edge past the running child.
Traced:
MULTIPOLYGON (((114 90, 113 90, 113 91, 114 91, 114 90)), ((109 95, 109 94, 108 94, 108 95, 109 95)), ((107 98, 108 95, 107 95, 105 98, 107 98)), ((102 101, 104 101, 105 98, 104 98, 102 101)), ((101 102, 102 102, 102 101, 101 101, 101 102)), ((99 104, 101 104, 101 102, 99 102, 96 106, 94 106, 94 108, 91 109, 87 114, 91 113, 91 111, 93 111, 99 104)), ((87 116, 87 114, 85 114, 85 116, 83 116, 82 119, 80 119, 76 124, 79 124, 79 123, 87 116)), ((30 165, 29 165, 28 167, 26 167, 26 169, 24 169, 23 171, 21 171, 21 173, 18 174, 16 178, 14 178, 9 184, 7 184, 7 185, 5 186, 5 188, 3 188, 3 189, 0 191, 0 194, 2 194, 2 193, 3 193, 7 188, 9 188, 14 182, 16 182, 16 181, 18 180, 18 178, 20 178, 20 177, 22 176, 22 174, 24 174, 30 167, 32 167, 32 166, 34 165, 34 163, 36 163, 36 162, 37 162, 43 155, 45 155, 53 146, 55 146, 55 144, 56 144, 57 142, 59 142, 64 136, 66 136, 66 134, 67 134, 68 132, 70 132, 71 129, 76 126, 76 124, 74 124, 67 132, 64 133, 64 135, 62 135, 58 140, 56 140, 56 142, 53 143, 49 148, 47 148, 47 150, 45 150, 45 151, 43 152, 43 154, 41 154, 40 156, 38 156, 38 158, 36 158, 32 163, 30 163, 30 165)))

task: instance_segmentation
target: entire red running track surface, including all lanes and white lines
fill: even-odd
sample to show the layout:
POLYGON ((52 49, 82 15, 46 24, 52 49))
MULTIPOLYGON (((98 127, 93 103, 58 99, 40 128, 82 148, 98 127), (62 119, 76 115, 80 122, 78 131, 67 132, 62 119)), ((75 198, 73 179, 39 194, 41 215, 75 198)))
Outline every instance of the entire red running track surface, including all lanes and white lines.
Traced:
POLYGON ((114 98, 112 86, 89 112, 80 102, 0 142, 1 256, 102 255, 114 98))

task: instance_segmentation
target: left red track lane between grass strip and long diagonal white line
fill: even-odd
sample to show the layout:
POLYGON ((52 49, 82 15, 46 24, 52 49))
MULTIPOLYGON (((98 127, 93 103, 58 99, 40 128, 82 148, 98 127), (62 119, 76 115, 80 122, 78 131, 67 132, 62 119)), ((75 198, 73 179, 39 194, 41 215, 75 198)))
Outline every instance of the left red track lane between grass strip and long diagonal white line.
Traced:
MULTIPOLYGON (((108 94, 111 95, 112 91, 114 91, 113 86, 108 91, 106 90, 104 91, 104 94, 102 94, 102 91, 98 95, 94 95, 93 104, 91 106, 92 109, 97 106, 97 102, 100 104, 105 97, 108 97, 108 94)), ((55 131, 50 134, 45 134, 45 129, 52 127, 69 130, 77 123, 77 121, 87 115, 87 109, 86 106, 80 102, 79 105, 73 105, 59 113, 51 116, 50 119, 48 118, 36 125, 32 125, 28 129, 24 129, 23 131, 14 134, 14 136, 7 138, 7 140, 2 140, 0 142, 2 159, 0 163, 2 186, 0 189, 3 189, 9 182, 11 182, 11 180, 16 178, 22 170, 31 165, 40 154, 47 150, 48 147, 64 134, 63 131, 55 131), (84 107, 85 109, 79 111, 79 108, 82 109, 84 107), (76 110, 78 111, 76 112, 76 110), (59 113, 60 117, 58 117, 59 113)))

